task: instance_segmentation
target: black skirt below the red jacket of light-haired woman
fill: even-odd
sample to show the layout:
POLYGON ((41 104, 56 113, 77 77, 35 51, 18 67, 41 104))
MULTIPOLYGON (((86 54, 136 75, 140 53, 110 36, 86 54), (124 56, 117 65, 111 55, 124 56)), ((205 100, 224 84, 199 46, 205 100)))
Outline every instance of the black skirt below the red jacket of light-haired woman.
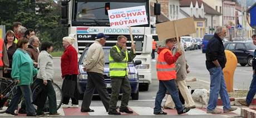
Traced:
POLYGON ((76 81, 72 80, 72 75, 65 76, 62 83, 62 94, 68 98, 75 98, 76 81))

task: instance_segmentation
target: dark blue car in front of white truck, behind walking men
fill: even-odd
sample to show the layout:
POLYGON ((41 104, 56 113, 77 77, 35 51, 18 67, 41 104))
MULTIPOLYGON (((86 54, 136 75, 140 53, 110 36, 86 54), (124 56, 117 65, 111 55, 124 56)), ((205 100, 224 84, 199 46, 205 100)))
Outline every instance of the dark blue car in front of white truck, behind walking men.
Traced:
MULTIPOLYGON (((104 68, 104 79, 106 81, 107 85, 107 91, 109 94, 111 94, 111 79, 109 74, 109 52, 111 47, 104 47, 104 55, 105 55, 105 68, 104 68)), ((86 89, 87 84, 87 73, 86 71, 83 71, 83 60, 86 57, 88 48, 85 48, 83 50, 83 53, 78 61, 78 79, 77 79, 77 87, 80 94, 83 94, 86 89)), ((135 62, 132 61, 129 63, 128 70, 128 78, 131 85, 131 98, 132 100, 138 100, 139 99, 139 74, 135 68, 136 65, 140 65, 141 60, 136 60, 135 62)), ((120 90, 120 94, 122 93, 122 89, 120 90)), ((97 90, 95 89, 95 92, 93 95, 98 95, 97 90)))

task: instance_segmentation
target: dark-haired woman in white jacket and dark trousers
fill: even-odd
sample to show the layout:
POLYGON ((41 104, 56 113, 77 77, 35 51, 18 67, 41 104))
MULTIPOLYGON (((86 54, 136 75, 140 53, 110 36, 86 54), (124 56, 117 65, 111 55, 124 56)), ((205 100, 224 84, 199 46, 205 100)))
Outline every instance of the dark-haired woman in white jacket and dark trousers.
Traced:
MULTIPOLYGON (((41 45, 41 53, 38 55, 38 83, 40 87, 46 92, 45 98, 41 99, 43 105, 48 97, 50 116, 60 116, 57 112, 56 93, 52 85, 53 81, 53 58, 50 54, 53 50, 51 42, 44 42, 41 45)), ((45 116, 43 113, 43 106, 37 106, 37 116, 45 116)))

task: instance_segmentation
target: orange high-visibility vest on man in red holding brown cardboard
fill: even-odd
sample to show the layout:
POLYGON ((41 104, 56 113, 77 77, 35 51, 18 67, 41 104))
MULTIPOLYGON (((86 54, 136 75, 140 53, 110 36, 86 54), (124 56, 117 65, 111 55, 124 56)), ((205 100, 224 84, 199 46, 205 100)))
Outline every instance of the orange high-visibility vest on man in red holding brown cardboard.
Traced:
POLYGON ((164 54, 166 52, 173 55, 171 53, 171 50, 169 50, 169 49, 162 50, 160 52, 160 54, 158 55, 157 62, 156 62, 156 74, 157 74, 158 80, 176 79, 175 63, 169 65, 164 60, 164 54))

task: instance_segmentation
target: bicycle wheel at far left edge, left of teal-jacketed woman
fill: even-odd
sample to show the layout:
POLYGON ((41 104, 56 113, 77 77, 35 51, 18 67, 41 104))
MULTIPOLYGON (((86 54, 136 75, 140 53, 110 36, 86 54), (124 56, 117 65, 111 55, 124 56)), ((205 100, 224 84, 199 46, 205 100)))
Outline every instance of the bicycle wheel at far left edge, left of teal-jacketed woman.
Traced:
MULTIPOLYGON (((8 81, 8 80, 0 80, 0 93, 3 92, 4 89, 6 89, 8 87, 9 84, 11 84, 12 82, 11 81, 8 81)), ((8 88, 8 90, 3 93, 3 95, 6 95, 7 92, 11 91, 11 89, 13 88, 13 86, 10 86, 8 88)), ((7 107, 9 106, 9 103, 11 102, 12 100, 12 96, 13 96, 14 92, 11 91, 11 94, 9 95, 7 101, 4 101, 4 104, 3 104, 3 107, 0 107, 0 114, 6 112, 7 110, 7 107)))

